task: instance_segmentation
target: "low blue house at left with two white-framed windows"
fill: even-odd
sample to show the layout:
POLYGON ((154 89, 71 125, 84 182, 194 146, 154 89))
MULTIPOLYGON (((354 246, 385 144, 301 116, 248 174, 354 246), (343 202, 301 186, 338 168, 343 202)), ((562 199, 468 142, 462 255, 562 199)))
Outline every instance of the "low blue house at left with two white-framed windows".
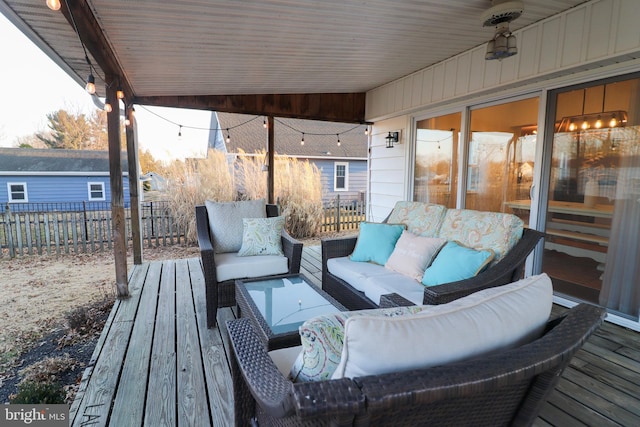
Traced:
MULTIPOLYGON (((127 156, 124 202, 129 206, 127 156)), ((0 206, 111 202, 107 151, 0 148, 0 206)))

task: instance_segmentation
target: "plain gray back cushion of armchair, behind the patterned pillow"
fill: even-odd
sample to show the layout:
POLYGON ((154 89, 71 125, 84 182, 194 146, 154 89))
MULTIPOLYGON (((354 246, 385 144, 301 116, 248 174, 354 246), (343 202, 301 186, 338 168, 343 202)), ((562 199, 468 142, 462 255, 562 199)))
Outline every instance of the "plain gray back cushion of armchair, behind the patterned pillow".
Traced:
POLYGON ((237 202, 205 202, 209 216, 209 230, 215 253, 238 252, 242 246, 244 226, 242 218, 266 218, 266 202, 241 200, 237 202))

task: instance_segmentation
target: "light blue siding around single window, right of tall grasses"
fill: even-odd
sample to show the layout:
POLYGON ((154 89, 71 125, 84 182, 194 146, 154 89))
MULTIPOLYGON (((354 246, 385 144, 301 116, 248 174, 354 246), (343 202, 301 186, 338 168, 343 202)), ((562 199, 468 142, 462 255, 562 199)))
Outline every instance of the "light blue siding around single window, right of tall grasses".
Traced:
POLYGON ((366 160, 336 159, 319 160, 310 159, 309 162, 320 170, 322 180, 322 201, 327 203, 340 196, 341 200, 360 200, 367 191, 367 162, 366 160), (334 171, 336 163, 348 163, 349 173, 347 190, 334 190, 334 171))

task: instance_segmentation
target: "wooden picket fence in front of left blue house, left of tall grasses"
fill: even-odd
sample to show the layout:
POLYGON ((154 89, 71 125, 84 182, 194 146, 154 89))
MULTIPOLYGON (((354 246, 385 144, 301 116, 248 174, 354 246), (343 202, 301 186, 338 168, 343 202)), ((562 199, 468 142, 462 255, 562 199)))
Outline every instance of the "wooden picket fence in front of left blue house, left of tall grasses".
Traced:
MULTIPOLYGON (((101 252, 113 248, 109 203, 38 203, 7 205, 0 212, 0 257, 34 254, 101 252)), ((171 216, 167 202, 143 203, 143 245, 184 242, 185 230, 171 216)), ((131 210, 125 209, 127 241, 131 241, 131 210)))

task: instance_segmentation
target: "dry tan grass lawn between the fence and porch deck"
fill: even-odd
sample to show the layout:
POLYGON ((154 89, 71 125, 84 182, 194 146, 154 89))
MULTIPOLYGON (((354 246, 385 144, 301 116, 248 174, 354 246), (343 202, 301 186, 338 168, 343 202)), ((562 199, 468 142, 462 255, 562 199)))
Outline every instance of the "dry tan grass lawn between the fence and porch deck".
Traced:
MULTIPOLYGON (((199 256, 197 247, 179 245, 145 248, 143 253, 145 261, 199 256)), ((25 349, 64 327, 65 313, 115 298, 112 252, 13 259, 5 254, 0 272, 0 383, 25 349)))

